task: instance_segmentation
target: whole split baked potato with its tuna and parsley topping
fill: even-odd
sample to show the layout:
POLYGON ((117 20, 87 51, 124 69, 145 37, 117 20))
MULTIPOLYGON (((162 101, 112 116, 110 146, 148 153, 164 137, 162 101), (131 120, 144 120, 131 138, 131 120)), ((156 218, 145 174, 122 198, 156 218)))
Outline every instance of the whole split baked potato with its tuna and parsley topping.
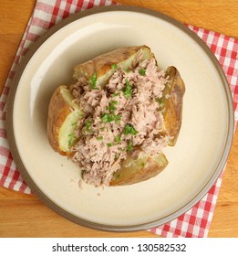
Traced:
POLYGON ((163 73, 150 48, 139 46, 81 63, 73 79, 49 102, 52 148, 76 162, 83 179, 96 187, 157 176, 168 165, 163 146, 174 145, 181 129, 185 87, 179 71, 163 73), (148 84, 153 88, 147 90, 148 84))

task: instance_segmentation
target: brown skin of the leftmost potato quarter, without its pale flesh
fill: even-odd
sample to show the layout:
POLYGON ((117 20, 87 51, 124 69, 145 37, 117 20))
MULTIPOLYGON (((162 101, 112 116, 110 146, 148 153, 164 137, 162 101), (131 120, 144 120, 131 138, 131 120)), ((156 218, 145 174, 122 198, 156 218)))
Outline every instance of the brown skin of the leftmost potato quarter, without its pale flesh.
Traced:
POLYGON ((48 107, 48 118, 47 118, 47 137, 52 148, 60 155, 67 155, 59 148, 59 129, 70 113, 70 108, 62 96, 61 89, 66 87, 61 85, 54 91, 48 107))

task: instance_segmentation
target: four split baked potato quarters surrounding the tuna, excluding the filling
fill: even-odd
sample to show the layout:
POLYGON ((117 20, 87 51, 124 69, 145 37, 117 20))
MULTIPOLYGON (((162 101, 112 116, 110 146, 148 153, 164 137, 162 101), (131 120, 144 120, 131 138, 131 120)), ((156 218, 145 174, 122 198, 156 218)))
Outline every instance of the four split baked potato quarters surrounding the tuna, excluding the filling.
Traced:
MULTIPOLYGON (((154 57, 150 48, 146 46, 119 48, 88 62, 79 64, 73 70, 73 78, 78 80, 79 77, 84 77, 90 80, 96 74, 97 80, 101 78, 99 85, 103 85, 107 82, 110 72, 115 71, 112 68, 113 64, 117 64, 120 68, 128 70, 133 65, 133 59, 136 59, 141 54, 143 55, 142 59, 154 57)), ((170 138, 169 145, 174 145, 181 129, 182 97, 185 86, 176 68, 170 67, 166 70, 166 73, 169 76, 169 80, 161 98, 164 119, 161 134, 168 135, 170 138)), ((62 150, 59 144, 61 139, 60 129, 63 125, 66 125, 67 116, 72 112, 72 105, 62 94, 62 89, 67 90, 68 88, 67 86, 58 87, 49 103, 47 136, 52 148, 56 152, 70 157, 74 155, 74 152, 70 151, 70 148, 68 151, 62 150)), ((78 117, 78 120, 80 118, 78 117)), ((70 123, 67 125, 70 125, 70 123)), ((125 163, 121 164, 121 168, 113 174, 109 186, 132 185, 148 180, 153 176, 157 176, 167 165, 168 160, 162 153, 159 155, 143 155, 136 159, 129 155, 125 163)))

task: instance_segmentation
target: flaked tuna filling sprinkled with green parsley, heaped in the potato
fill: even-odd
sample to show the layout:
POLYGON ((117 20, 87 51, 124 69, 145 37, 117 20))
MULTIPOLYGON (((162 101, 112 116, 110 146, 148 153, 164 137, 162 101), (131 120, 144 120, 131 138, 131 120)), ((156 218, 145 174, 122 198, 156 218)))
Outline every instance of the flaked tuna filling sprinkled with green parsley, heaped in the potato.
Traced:
POLYGON ((80 79, 71 88, 85 112, 78 123, 73 160, 86 182, 108 186, 127 155, 138 149, 153 155, 167 145, 166 136, 160 135, 160 98, 167 80, 155 59, 146 59, 133 70, 115 70, 103 89, 92 86, 95 79, 80 79))

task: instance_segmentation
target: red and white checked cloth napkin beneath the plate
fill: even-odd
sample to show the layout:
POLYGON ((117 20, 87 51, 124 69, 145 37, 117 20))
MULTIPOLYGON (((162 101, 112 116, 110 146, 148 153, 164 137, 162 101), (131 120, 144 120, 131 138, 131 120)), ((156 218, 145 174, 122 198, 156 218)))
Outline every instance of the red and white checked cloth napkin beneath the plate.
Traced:
MULTIPOLYGON (((17 50, 16 59, 14 60, 14 64, 0 98, 0 186, 24 193, 31 193, 30 188, 27 187, 17 170, 9 150, 5 132, 5 102, 7 100, 11 80, 13 80, 15 75, 17 64, 20 63, 27 49, 30 48, 36 39, 60 20, 70 14, 84 11, 98 5, 115 4, 116 3, 112 3, 109 0, 36 1, 34 13, 28 22, 26 32, 17 50)), ((238 121, 238 40, 199 27, 193 27, 191 25, 185 26, 189 27, 194 33, 201 37, 220 61, 233 93, 233 110, 236 125, 238 121)), ((223 172, 224 170, 222 171, 222 175, 223 172)), ((148 231, 164 237, 206 237, 212 221, 219 189, 222 184, 222 175, 218 178, 207 195, 193 208, 181 215, 178 219, 174 219, 167 224, 149 229, 148 231)))

